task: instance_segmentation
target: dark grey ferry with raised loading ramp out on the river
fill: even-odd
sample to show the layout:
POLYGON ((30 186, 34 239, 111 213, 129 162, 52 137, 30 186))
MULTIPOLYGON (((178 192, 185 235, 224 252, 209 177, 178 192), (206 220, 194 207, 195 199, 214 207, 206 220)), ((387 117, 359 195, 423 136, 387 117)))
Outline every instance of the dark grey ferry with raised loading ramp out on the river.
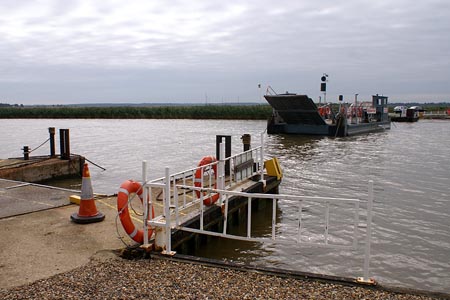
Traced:
POLYGON ((334 111, 331 105, 317 107, 307 95, 292 93, 265 95, 273 108, 267 132, 351 136, 391 128, 388 97, 374 95, 372 102, 341 104, 334 111))

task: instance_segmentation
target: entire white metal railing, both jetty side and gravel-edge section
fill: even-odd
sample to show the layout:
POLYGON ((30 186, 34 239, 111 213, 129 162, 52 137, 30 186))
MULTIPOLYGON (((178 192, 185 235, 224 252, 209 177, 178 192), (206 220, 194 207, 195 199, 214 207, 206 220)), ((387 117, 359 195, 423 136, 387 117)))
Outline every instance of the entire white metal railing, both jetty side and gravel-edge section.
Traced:
MULTIPOLYGON (((263 140, 262 140, 263 142, 263 140)), ((261 143, 262 145, 263 143, 261 143)), ((201 167, 196 167, 183 172, 178 172, 175 174, 170 174, 169 168, 165 170, 165 177, 159 178, 153 181, 147 181, 147 165, 146 162, 143 163, 143 185, 144 187, 144 244, 148 244, 148 229, 151 227, 159 227, 160 230, 155 230, 155 243, 159 244, 163 253, 173 254, 171 249, 171 230, 176 228, 178 230, 188 231, 192 233, 205 234, 210 236, 217 236, 228 239, 251 241, 251 242, 261 242, 261 243, 282 243, 290 245, 313 245, 317 247, 331 247, 331 248, 344 248, 354 250, 358 246, 358 227, 359 227, 359 215, 360 215, 360 199, 349 199, 349 198, 331 198, 331 197, 307 197, 307 196, 294 196, 294 195, 283 195, 283 194, 262 194, 262 193, 246 193, 240 191, 233 191, 233 187, 244 179, 248 179, 256 174, 261 175, 261 181, 263 181, 263 147, 260 146, 249 151, 239 153, 237 155, 231 156, 229 158, 222 159, 224 157, 224 145, 220 145, 220 157, 221 159, 217 162, 213 162, 208 165, 201 167), (228 180, 225 176, 225 163, 230 162, 230 175, 228 180), (250 163, 247 163, 251 161, 250 163), (244 168, 239 169, 237 166, 244 163, 244 168), (245 165, 247 163, 248 165, 245 165), (257 166, 254 169, 254 166, 257 166), (251 167, 249 167, 251 166, 251 167), (214 168, 217 170, 218 174, 214 174, 214 178, 211 172, 206 172, 207 178, 203 178, 205 170, 211 170, 214 168), (195 186, 195 181, 193 180, 197 170, 201 170, 201 181, 204 182, 206 179, 206 184, 195 186), (217 179, 216 179, 217 178, 217 179), (150 217, 149 212, 152 211, 152 205, 154 199, 152 199, 152 189, 158 188, 162 189, 163 205, 164 211, 163 215, 150 217), (188 196, 191 194, 191 196, 188 196), (211 197, 212 194, 219 194, 220 197, 216 205, 219 205, 223 209, 223 230, 222 232, 214 232, 206 230, 204 226, 204 213, 207 210, 203 203, 205 198, 211 197), (181 198, 180 198, 181 197, 181 198), (239 199, 244 199, 247 201, 247 232, 246 235, 236 235, 228 233, 228 214, 229 208, 228 204, 232 198, 238 197, 239 199), (272 224, 271 224, 271 234, 269 236, 256 236, 252 234, 252 201, 254 199, 268 199, 272 201, 272 224), (298 207, 297 214, 297 232, 292 233, 288 237, 281 236, 277 234, 277 202, 284 201, 290 202, 293 206, 298 207), (325 212, 324 225, 322 232, 322 240, 319 242, 305 242, 302 241, 302 236, 305 233, 304 226, 307 221, 304 218, 304 210, 306 203, 322 203, 325 212), (353 237, 350 243, 347 244, 336 244, 330 242, 330 210, 333 205, 351 205, 353 206, 353 217, 352 224, 353 227, 353 237), (183 210, 187 210, 192 206, 199 206, 199 211, 197 215, 200 218, 200 225, 198 228, 190 228, 182 225, 182 220, 180 214, 183 210), (147 221, 145 221, 147 220, 147 221), (293 238, 295 236, 295 238, 293 238)), ((265 182, 263 182, 265 184, 265 182)), ((236 200, 242 201, 242 200, 236 200)), ((364 248, 364 265, 363 265, 363 277, 358 278, 358 280, 366 283, 372 282, 369 278, 369 262, 370 262, 370 244, 371 244, 371 232, 372 232, 372 207, 373 207, 373 182, 369 181, 368 187, 368 201, 367 201, 367 229, 365 236, 365 248, 364 248)))

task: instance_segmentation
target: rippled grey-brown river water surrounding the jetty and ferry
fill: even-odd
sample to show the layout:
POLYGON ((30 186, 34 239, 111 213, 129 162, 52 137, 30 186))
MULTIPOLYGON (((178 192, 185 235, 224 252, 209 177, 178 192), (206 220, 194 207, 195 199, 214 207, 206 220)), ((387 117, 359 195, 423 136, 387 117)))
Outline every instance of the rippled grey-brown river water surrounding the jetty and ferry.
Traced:
MULTIPOLYGON (((149 177, 195 166, 215 154, 215 136, 231 135, 260 144, 265 121, 223 120, 0 120, 0 157, 20 157, 48 138, 48 127, 69 128, 71 152, 91 165, 96 193, 117 193, 126 179, 149 177)), ((393 123, 391 130, 349 138, 265 135, 266 156, 283 169, 280 193, 367 199, 374 182, 370 275, 381 283, 450 292, 450 122, 393 123)), ((33 155, 47 155, 48 144, 33 155)), ((59 152, 59 151, 57 151, 59 152)), ((74 186, 79 189, 80 187, 74 186)), ((297 208, 278 203, 278 229, 289 228, 297 208)), ((314 210, 311 208, 311 211, 314 210)), ((342 212, 344 213, 344 212, 342 212)), ((339 219, 339 216, 337 217, 339 219)), ((361 219, 361 222, 364 218, 361 219)), ((262 221, 264 223, 264 221, 262 221)), ((270 222, 268 222, 270 226, 270 222)), ((360 228, 363 239, 364 228, 360 228)), ((221 241, 199 253, 255 265, 362 276, 363 249, 283 247, 221 241)))

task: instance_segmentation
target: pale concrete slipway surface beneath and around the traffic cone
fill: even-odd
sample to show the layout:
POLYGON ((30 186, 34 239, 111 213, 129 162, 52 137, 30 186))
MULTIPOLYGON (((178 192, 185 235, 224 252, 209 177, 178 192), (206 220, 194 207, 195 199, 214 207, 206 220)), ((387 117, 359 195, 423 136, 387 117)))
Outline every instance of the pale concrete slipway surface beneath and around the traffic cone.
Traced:
MULTIPOLYGON (((23 285, 85 265, 124 244, 117 238, 116 197, 99 198, 103 222, 75 224, 68 190, 0 180, 0 288, 23 285)), ((119 234, 129 242, 119 221, 119 234)))

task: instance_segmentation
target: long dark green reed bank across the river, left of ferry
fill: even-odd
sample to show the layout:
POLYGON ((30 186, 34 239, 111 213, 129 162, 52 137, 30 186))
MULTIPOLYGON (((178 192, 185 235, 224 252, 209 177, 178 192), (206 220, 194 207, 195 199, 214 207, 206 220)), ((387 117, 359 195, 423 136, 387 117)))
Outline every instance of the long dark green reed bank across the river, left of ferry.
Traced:
POLYGON ((1 119, 245 119, 265 120, 269 105, 1 107, 1 119))

